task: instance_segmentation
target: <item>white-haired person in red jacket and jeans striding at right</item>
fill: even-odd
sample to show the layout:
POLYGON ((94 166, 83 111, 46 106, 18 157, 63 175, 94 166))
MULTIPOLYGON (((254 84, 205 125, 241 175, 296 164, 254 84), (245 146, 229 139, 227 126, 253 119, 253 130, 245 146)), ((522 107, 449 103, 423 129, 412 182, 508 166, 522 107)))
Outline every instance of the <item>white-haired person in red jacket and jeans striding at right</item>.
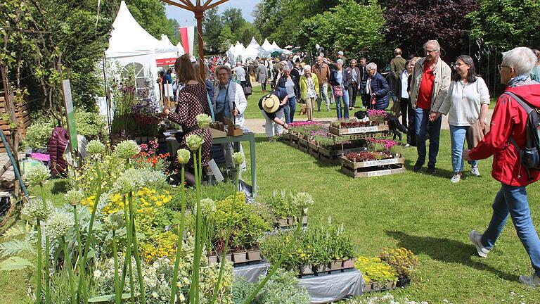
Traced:
MULTIPOLYGON (((518 47, 503 53, 499 73, 501 82, 508 84, 507 92, 519 96, 534 108, 540 108, 540 84, 529 77, 535 64, 534 53, 525 47, 518 47)), ((501 182, 501 190, 493 203, 489 226, 483 234, 473 230, 469 238, 478 255, 486 258, 510 215, 534 268, 534 274, 520 276, 520 282, 529 286, 540 286, 540 239, 532 223, 525 189, 527 185, 540 179, 540 171, 527 172, 519 157, 520 150, 525 147, 526 123, 525 109, 508 94, 501 94, 491 118, 490 132, 475 148, 464 152, 465 160, 480 160, 493 156, 491 176, 501 182)))

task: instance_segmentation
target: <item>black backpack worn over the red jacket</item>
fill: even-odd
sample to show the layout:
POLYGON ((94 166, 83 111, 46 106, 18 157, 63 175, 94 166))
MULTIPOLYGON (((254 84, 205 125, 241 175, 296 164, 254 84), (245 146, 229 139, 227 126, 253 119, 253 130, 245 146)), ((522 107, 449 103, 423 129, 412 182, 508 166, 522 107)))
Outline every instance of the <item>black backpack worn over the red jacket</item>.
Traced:
MULTIPOLYGON (((505 94, 513 97, 515 101, 522 106, 527 112, 527 125, 525 126, 525 148, 520 148, 515 142, 515 139, 510 136, 510 141, 518 149, 521 158, 521 164, 529 170, 540 170, 540 109, 534 108, 527 101, 524 101, 519 96, 505 92, 505 94)), ((530 178, 529 174, 529 178, 530 178)))

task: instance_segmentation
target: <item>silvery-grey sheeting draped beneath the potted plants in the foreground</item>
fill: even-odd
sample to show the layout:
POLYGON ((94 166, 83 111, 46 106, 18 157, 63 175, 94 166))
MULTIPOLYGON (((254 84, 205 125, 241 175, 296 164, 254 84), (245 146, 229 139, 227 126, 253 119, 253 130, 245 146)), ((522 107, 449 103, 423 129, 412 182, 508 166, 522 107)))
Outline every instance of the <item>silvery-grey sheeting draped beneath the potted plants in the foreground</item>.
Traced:
MULTIPOLYGON (((268 262, 234 267, 235 277, 244 277, 255 282, 259 276, 266 275, 270 268, 268 262)), ((342 298, 361 296, 364 288, 364 276, 359 270, 345 270, 319 276, 300 279, 299 286, 304 287, 311 296, 311 303, 330 303, 342 298)))

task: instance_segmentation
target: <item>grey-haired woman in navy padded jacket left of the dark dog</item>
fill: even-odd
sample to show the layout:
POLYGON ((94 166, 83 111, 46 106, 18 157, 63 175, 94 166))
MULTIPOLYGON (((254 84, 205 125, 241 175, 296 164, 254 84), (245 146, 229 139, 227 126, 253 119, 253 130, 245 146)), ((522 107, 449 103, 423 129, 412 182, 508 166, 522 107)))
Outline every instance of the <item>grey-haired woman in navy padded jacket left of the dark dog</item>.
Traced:
POLYGON ((368 102, 368 108, 374 108, 375 110, 385 110, 390 103, 390 86, 385 80, 383 75, 377 72, 377 65, 375 63, 368 63, 366 65, 368 71, 368 82, 366 83, 366 94, 371 96, 368 102))

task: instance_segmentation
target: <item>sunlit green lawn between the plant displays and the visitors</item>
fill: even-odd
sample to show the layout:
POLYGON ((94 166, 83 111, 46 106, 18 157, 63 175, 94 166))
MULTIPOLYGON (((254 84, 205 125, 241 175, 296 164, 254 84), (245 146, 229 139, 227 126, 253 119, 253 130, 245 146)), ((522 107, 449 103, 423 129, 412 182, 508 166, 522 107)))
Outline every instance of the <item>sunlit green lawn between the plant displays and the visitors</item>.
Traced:
MULTIPOLYGON (((491 178, 491 159, 480 162, 482 177, 451 184, 449 132, 442 131, 437 173, 411 172, 416 150, 405 151, 408 171, 401 175, 352 179, 339 165, 315 158, 282 143, 257 137, 259 194, 274 189, 307 191, 315 205, 310 224, 344 223, 361 255, 382 248, 406 247, 418 255, 418 277, 394 296, 429 303, 539 303, 539 291, 518 283, 530 274, 527 253, 508 223, 487 259, 476 255, 468 232, 487 227, 491 203, 500 184, 491 178)), ((249 153, 248 146, 244 146, 249 153)), ((249 162, 248 162, 249 165, 249 162)), ((243 176, 250 181, 250 170, 243 176)), ((48 195, 60 201, 65 185, 49 182, 48 195)), ((538 227, 539 185, 528 187, 531 213, 538 227)), ((29 303, 21 272, 0 273, 0 303, 29 303)), ((370 296, 377 296, 371 294, 370 296)))

